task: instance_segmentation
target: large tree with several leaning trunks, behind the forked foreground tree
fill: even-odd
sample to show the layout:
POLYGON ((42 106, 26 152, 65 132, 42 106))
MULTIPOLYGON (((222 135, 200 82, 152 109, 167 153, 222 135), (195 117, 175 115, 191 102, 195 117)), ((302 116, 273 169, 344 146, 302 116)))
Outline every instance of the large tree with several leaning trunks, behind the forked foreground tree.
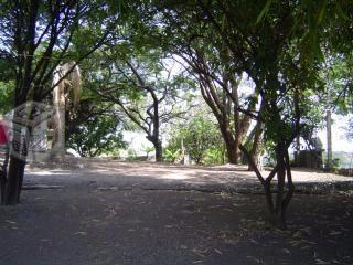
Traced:
MULTIPOLYGON (((190 75, 200 84, 204 100, 216 117, 224 139, 228 161, 240 161, 239 145, 246 140, 250 117, 257 113, 258 91, 248 87, 242 93, 244 71, 232 61, 229 49, 214 34, 214 29, 204 23, 204 13, 197 4, 176 2, 156 3, 159 12, 154 24, 162 24, 162 31, 152 31, 156 39, 163 41, 163 47, 176 54, 190 75), (194 21, 199 21, 197 24, 194 21)), ((148 22, 147 22, 148 23, 148 22)), ((253 136, 252 156, 258 153, 258 141, 263 129, 260 124, 253 136)), ((248 140, 250 142, 250 140, 248 140)))

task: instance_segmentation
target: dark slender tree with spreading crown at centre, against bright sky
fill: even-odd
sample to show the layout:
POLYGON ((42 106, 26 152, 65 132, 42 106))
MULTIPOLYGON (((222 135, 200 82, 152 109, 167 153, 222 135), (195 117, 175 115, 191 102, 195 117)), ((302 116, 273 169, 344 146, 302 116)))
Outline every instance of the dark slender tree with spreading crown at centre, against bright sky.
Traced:
POLYGON ((118 45, 104 53, 101 61, 98 60, 104 68, 89 77, 92 84, 103 85, 92 85, 92 89, 104 100, 119 106, 152 142, 156 160, 162 161, 161 127, 185 114, 180 107, 184 99, 176 91, 190 85, 172 73, 173 64, 158 50, 132 49, 118 45))

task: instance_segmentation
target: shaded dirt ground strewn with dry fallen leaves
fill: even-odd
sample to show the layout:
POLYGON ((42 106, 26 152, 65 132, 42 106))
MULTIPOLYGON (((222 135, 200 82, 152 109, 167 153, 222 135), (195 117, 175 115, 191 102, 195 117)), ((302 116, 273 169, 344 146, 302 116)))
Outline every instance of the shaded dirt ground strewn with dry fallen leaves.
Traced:
POLYGON ((353 178, 295 170, 288 231, 245 168, 71 159, 0 206, 0 264, 353 264, 353 178))

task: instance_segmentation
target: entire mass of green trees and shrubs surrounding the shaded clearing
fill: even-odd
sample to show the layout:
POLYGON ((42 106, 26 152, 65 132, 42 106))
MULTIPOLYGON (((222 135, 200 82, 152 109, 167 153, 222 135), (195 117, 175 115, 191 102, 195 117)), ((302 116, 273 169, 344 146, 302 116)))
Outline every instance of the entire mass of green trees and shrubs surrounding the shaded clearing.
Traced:
MULTIPOLYGON (((332 112, 352 113, 347 0, 14 1, 0 10, 1 112, 51 102, 53 71, 75 62, 89 96, 66 113, 68 147, 110 152, 124 147, 124 125, 145 134, 157 161, 168 130, 168 160, 186 151, 196 163, 218 163, 225 149, 238 163, 243 153, 282 227, 295 191, 290 146, 311 139, 324 118, 330 131, 332 112), (194 94, 212 118, 192 114, 194 94), (264 149, 275 158, 267 177, 264 149)), ((11 156, 3 203, 19 202, 25 163, 11 156)))

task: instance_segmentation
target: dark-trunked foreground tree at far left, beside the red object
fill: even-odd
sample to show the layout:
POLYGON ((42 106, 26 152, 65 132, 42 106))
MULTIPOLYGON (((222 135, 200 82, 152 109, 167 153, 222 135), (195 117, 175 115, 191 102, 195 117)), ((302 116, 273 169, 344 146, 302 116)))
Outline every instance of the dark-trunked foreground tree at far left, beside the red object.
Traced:
MULTIPOLYGON (((116 26, 117 11, 116 3, 106 1, 2 1, 0 46, 3 57, 12 62, 13 108, 42 102, 53 89, 50 81, 56 66, 68 57, 79 63, 99 47, 116 26), (86 44, 74 51, 73 43, 83 40, 86 44)), ((23 136, 15 134, 14 139, 25 147, 23 136)), ((25 163, 25 153, 10 156, 3 203, 19 202, 25 163)))

